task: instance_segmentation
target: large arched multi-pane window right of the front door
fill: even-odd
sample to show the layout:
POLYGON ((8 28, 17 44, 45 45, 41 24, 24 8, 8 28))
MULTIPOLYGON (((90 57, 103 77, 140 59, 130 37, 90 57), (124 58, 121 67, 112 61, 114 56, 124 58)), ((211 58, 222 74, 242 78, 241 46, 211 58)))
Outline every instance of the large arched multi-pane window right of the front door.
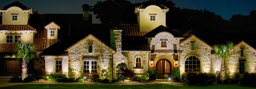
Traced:
POLYGON ((190 56, 186 59, 185 71, 200 71, 200 61, 196 56, 190 56))

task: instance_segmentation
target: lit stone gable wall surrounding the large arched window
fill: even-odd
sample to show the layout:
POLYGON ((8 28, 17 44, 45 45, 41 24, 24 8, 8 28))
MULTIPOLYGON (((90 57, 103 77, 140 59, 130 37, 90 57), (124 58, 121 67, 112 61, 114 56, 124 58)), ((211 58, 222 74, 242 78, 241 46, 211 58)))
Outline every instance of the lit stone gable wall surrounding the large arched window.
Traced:
POLYGON ((189 56, 196 56, 200 60, 200 71, 211 71, 211 48, 195 36, 190 37, 180 44, 180 73, 185 72, 185 60, 189 56), (191 50, 191 41, 195 41, 194 50, 191 50))

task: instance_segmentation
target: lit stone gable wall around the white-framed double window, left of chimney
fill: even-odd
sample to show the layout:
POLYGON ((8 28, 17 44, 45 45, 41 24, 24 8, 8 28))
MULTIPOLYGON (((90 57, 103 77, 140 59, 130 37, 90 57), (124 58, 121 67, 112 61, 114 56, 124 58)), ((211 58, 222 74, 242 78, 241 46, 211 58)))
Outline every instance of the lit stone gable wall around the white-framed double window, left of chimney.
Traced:
POLYGON ((109 79, 112 78, 112 52, 108 46, 95 39, 93 36, 88 36, 70 49, 68 49, 69 68, 73 69, 76 78, 83 73, 84 60, 82 56, 98 56, 97 72, 101 74, 102 69, 109 72, 109 79), (88 53, 88 43, 93 43, 92 53, 88 53))

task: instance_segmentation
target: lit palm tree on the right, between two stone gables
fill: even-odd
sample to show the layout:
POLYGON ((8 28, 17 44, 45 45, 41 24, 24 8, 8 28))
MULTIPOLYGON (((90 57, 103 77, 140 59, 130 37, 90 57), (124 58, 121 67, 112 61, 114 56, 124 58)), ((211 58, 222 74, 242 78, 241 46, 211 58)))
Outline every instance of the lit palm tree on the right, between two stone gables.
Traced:
POLYGON ((220 74, 221 74, 221 80, 225 79, 225 61, 229 59, 229 52, 231 49, 234 48, 234 44, 231 41, 227 41, 227 44, 218 44, 212 46, 214 54, 217 55, 218 58, 222 60, 221 62, 221 68, 220 68, 220 74))

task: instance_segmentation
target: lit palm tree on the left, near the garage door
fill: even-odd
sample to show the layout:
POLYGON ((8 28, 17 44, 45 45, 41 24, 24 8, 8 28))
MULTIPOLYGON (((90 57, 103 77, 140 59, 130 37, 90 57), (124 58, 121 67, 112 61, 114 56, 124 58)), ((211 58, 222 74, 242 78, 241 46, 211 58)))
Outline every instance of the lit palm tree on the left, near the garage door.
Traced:
POLYGON ((16 46, 16 58, 22 58, 22 73, 21 78, 24 80, 28 75, 27 63, 33 60, 35 54, 35 46, 31 42, 18 42, 16 46))

